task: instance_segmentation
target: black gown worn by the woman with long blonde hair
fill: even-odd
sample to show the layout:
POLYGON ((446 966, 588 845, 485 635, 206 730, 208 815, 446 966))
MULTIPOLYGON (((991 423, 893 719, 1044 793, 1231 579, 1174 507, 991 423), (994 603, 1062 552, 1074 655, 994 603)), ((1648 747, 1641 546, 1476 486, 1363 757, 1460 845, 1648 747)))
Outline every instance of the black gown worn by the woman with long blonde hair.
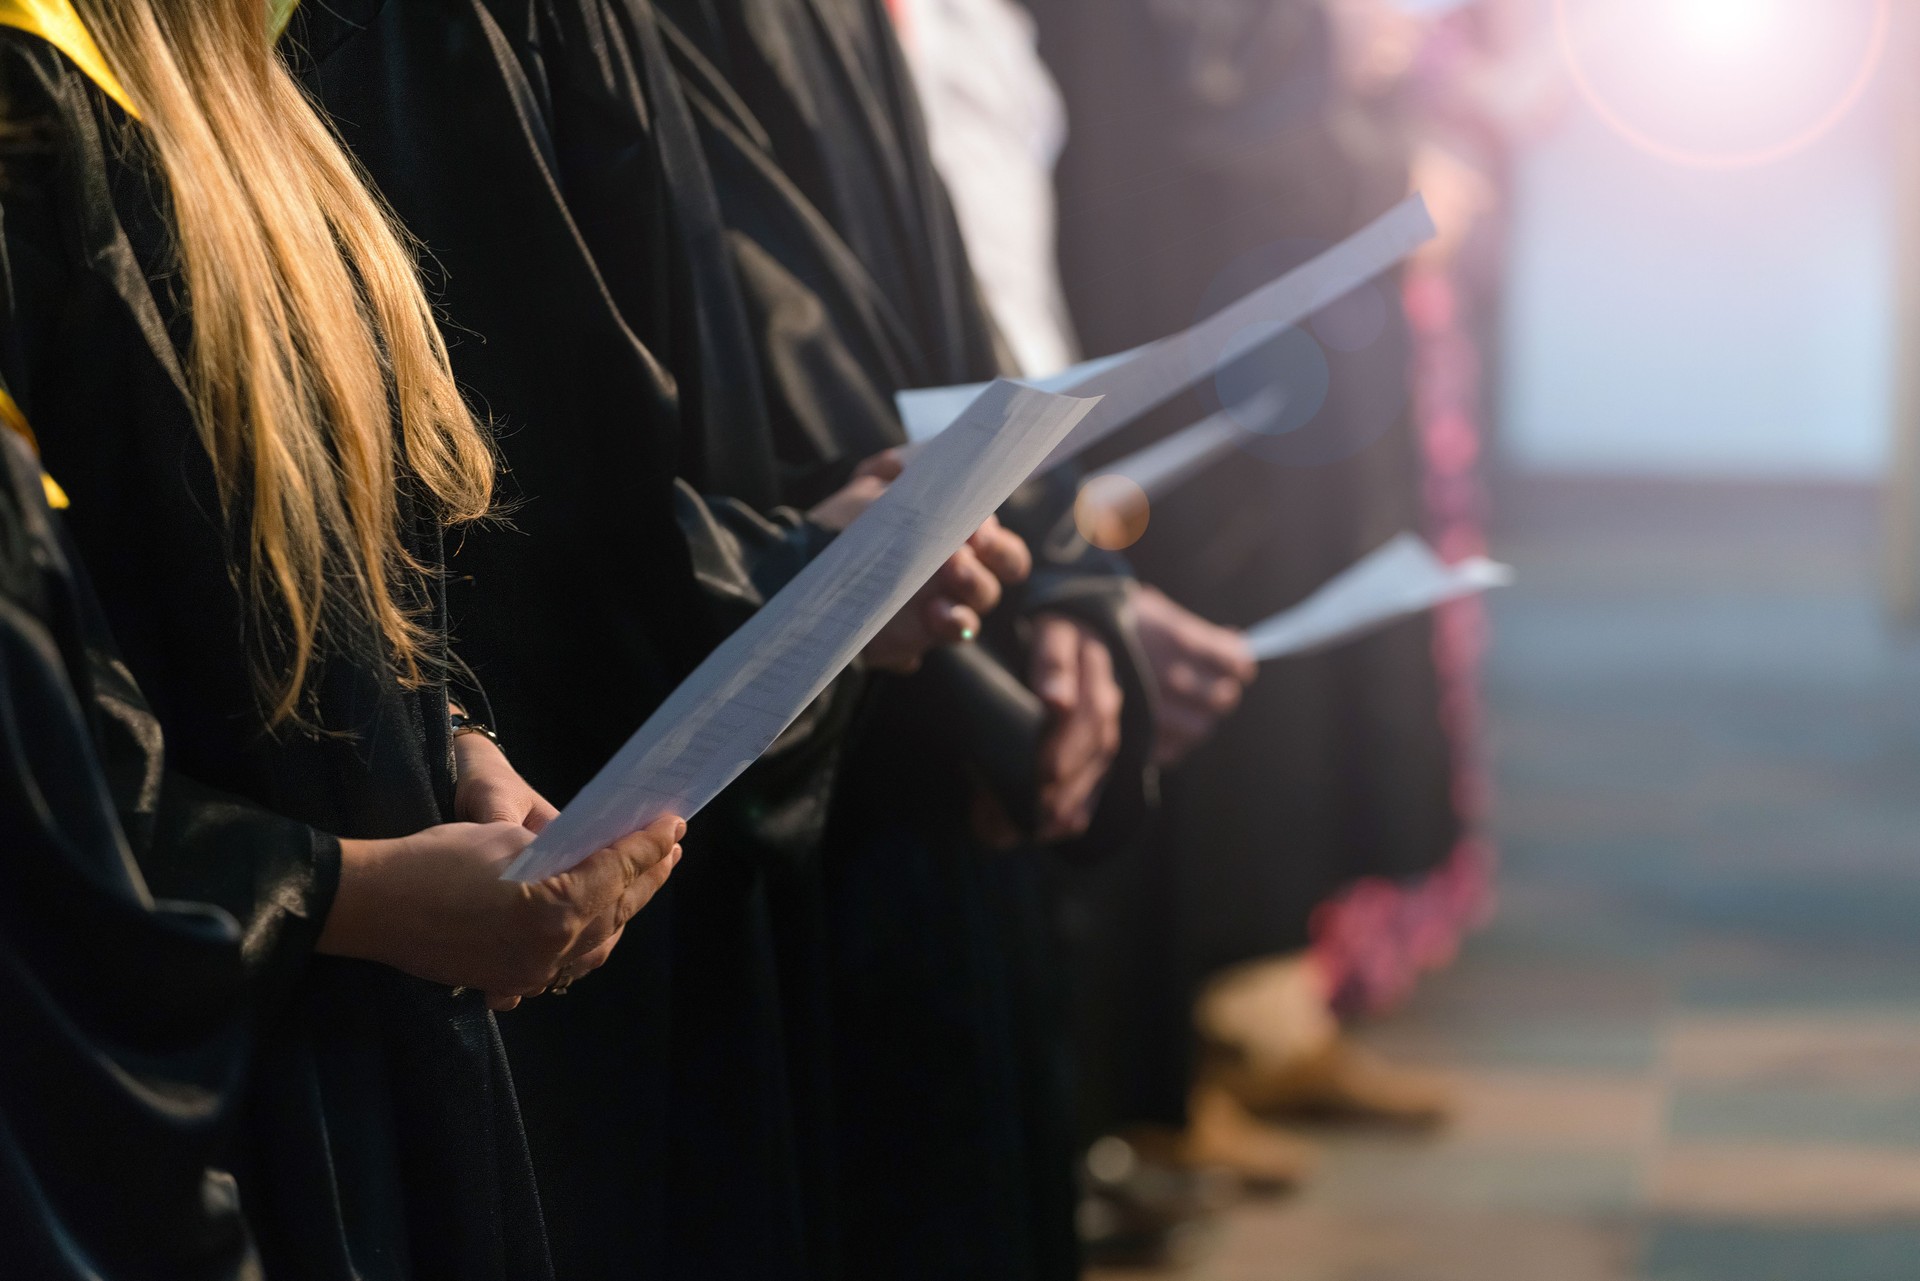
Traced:
MULTIPOLYGON (((73 497, 79 559, 180 776, 146 878, 156 895, 213 903, 240 924, 259 1051, 230 1160, 265 1268, 543 1277, 532 1168, 482 997, 313 955, 336 837, 397 837, 449 816, 447 689, 405 689, 348 640, 311 684, 309 716, 332 734, 265 730, 248 605, 228 572, 246 532, 221 517, 180 390, 186 319, 154 284, 169 271, 163 184, 61 54, 0 33, 0 73, 15 140, 0 192, 0 363, 73 497), (257 810, 280 816, 280 839, 257 839, 257 810)), ((405 538, 440 565, 432 520, 411 519, 405 538)), ((438 586, 422 597, 434 626, 438 586)))

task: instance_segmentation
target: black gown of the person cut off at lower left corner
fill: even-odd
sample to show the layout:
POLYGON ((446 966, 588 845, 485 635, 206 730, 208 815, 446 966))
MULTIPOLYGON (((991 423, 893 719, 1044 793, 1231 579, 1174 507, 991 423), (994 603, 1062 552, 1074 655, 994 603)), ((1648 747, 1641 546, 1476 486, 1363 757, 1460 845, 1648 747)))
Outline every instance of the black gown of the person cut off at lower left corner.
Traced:
MULTIPOLYGON (((240 933, 156 903, 161 734, 0 430, 0 1237, 44 1281, 240 1281, 240 933)), ((263 834, 273 839, 271 832, 263 834)))

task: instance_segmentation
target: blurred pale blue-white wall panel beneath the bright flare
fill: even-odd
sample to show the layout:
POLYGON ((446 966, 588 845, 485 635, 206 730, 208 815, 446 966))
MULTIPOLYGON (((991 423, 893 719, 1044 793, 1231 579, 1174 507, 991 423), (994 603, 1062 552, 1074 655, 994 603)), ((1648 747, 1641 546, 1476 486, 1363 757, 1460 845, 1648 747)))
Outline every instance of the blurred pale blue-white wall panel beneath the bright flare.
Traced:
MULTIPOLYGON (((1811 119, 1837 102, 1874 10, 1661 6, 1636 15, 1619 58, 1605 31, 1592 36, 1592 88, 1653 138, 1703 154, 1764 146, 1793 131, 1795 111, 1811 119), (1822 10, 1839 15, 1834 48, 1799 29, 1822 10), (1715 79, 1690 56, 1697 36, 1745 48, 1741 65, 1715 79), (1782 117, 1764 121, 1776 104, 1782 117)), ((1572 8, 1574 21, 1594 10, 1572 8)), ((1540 21, 1557 40, 1553 0, 1540 2, 1540 21)), ((1795 154, 1734 169, 1674 163, 1574 92, 1517 179, 1503 461, 1530 472, 1880 480, 1895 399, 1901 79, 1876 75, 1795 154)))

